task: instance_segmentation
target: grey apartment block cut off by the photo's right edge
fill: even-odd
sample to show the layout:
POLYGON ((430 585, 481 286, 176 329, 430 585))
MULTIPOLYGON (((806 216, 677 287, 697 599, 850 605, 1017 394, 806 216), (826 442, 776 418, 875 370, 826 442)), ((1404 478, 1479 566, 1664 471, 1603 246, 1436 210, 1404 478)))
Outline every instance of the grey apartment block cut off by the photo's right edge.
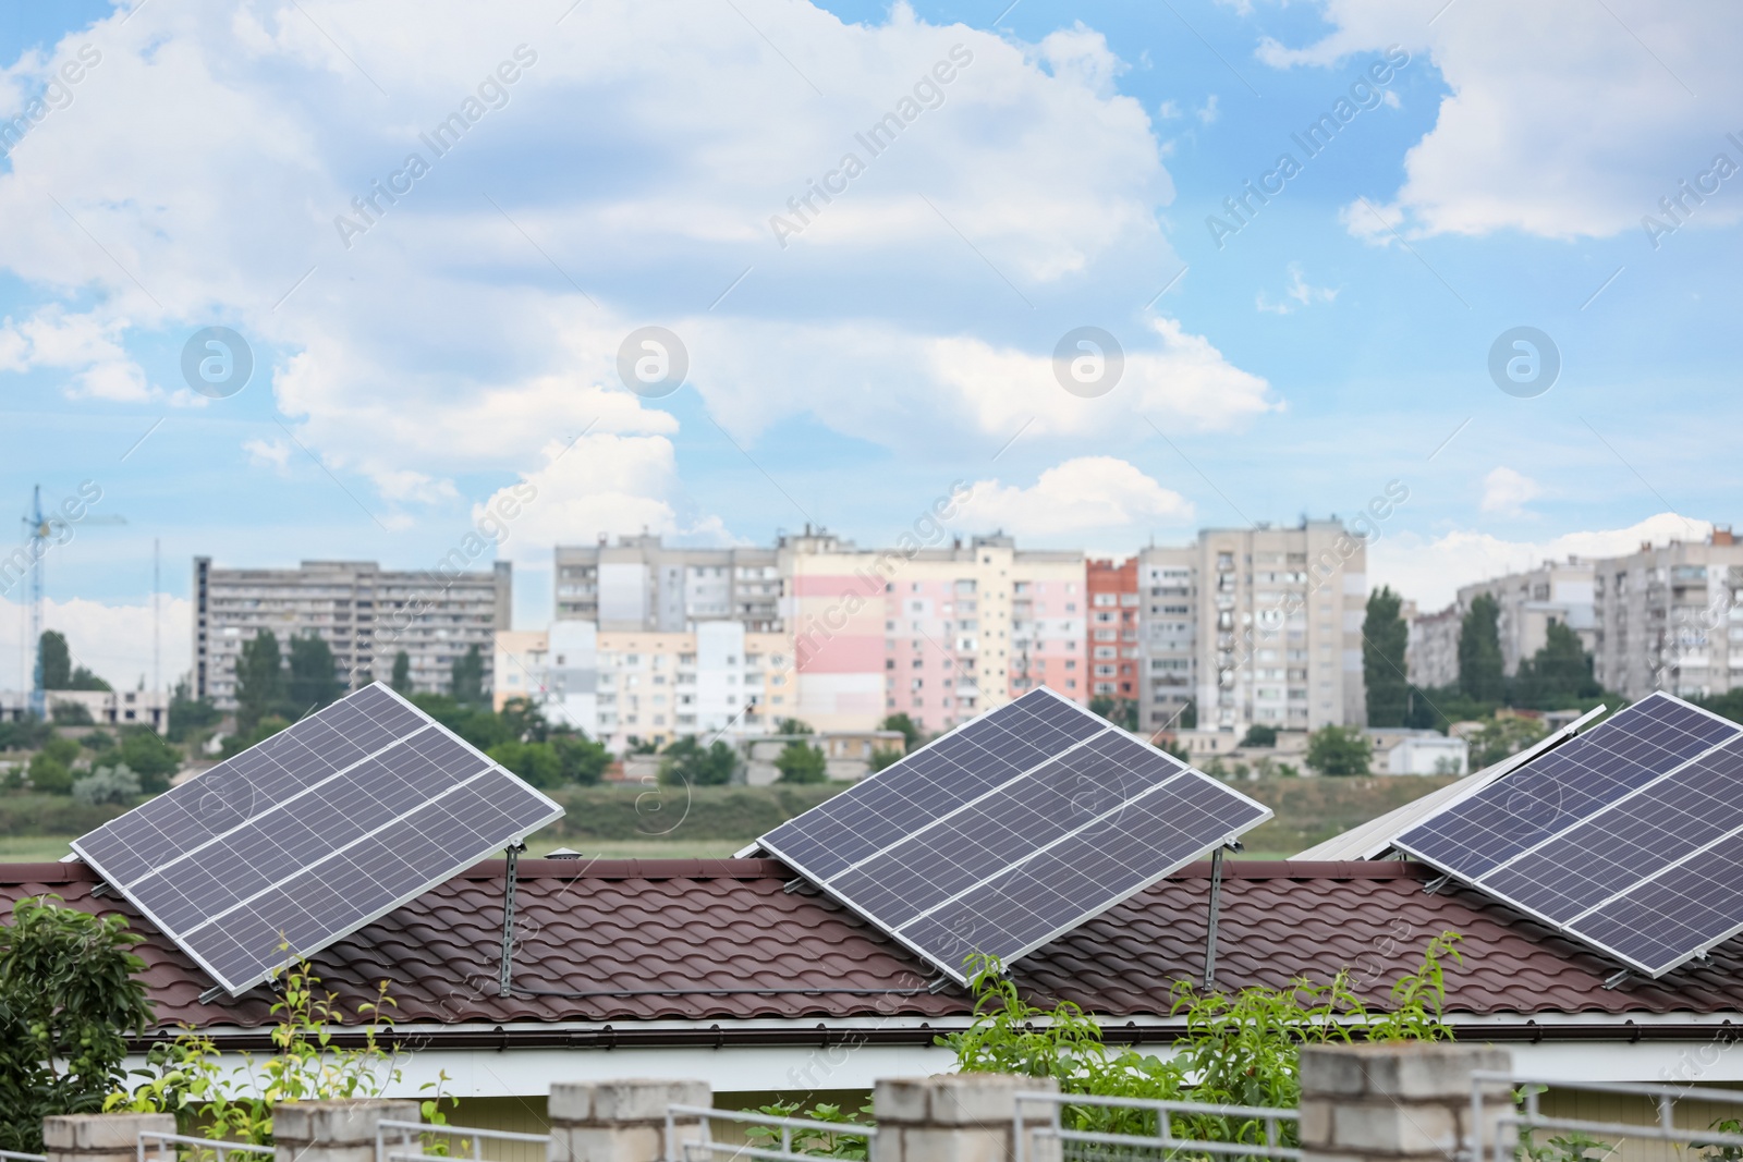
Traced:
POLYGON ((1743 545, 1729 526, 1591 568, 1593 671, 1604 688, 1698 699, 1743 685, 1743 545))

